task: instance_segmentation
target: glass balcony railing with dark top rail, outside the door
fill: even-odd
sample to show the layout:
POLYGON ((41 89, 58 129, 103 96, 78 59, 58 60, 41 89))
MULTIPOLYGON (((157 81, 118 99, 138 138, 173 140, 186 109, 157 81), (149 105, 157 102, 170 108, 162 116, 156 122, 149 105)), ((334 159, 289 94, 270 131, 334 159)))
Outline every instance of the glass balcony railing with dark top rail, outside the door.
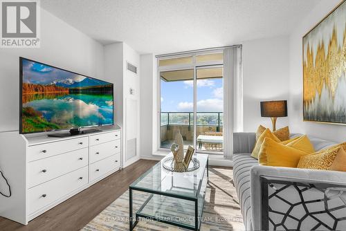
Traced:
MULTIPOLYGON (((224 127, 224 113, 222 112, 197 112, 196 126, 215 127, 216 131, 220 131, 224 127)), ((161 126, 171 125, 188 126, 190 130, 193 127, 193 112, 161 112, 161 126)))

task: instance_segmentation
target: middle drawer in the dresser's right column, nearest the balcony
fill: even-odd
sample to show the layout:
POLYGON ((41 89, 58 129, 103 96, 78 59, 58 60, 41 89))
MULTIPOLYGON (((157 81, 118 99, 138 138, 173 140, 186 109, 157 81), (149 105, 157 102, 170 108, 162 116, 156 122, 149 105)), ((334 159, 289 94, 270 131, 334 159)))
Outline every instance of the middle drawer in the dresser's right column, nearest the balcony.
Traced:
POLYGON ((102 160, 108 156, 118 154, 120 152, 120 140, 113 140, 104 142, 100 145, 93 145, 90 147, 89 159, 90 163, 102 160))

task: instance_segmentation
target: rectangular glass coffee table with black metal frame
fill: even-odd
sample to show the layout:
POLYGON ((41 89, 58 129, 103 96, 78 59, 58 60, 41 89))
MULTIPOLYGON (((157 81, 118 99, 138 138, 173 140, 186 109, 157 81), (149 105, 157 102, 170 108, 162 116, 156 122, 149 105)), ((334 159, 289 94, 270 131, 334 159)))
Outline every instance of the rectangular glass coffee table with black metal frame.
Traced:
POLYGON ((160 161, 129 186, 129 230, 134 230, 140 219, 199 230, 208 183, 208 155, 193 157, 200 165, 193 172, 169 172, 160 161))

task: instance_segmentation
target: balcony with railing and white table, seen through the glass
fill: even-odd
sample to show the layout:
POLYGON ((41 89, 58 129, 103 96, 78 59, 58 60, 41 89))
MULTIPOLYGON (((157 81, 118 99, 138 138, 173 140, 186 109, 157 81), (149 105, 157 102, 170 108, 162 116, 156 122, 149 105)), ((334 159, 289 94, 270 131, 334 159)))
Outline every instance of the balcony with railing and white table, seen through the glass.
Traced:
MULTIPOLYGON (((223 151, 223 120, 222 112, 198 112, 196 138, 197 150, 223 151), (201 135, 201 136, 200 136, 201 135)), ((170 148, 176 132, 180 131, 184 140, 184 149, 193 146, 194 118, 192 112, 161 112, 161 148, 170 148)))

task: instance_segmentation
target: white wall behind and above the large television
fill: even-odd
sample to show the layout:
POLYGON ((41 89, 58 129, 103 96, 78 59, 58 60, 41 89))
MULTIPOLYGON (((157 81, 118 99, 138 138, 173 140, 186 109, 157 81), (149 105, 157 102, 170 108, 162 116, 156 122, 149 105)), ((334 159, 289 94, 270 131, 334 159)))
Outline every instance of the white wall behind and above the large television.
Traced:
POLYGON ((41 48, 0 48, 0 131, 19 129, 19 56, 104 78, 103 46, 42 9, 41 48))

